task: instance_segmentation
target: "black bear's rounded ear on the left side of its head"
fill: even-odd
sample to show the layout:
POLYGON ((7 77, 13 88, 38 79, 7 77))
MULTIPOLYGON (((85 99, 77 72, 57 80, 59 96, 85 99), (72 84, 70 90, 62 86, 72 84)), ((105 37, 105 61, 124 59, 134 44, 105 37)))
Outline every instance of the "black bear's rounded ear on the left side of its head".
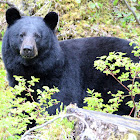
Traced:
POLYGON ((20 13, 16 8, 9 8, 6 11, 6 21, 9 25, 12 25, 16 20, 20 18, 20 13))

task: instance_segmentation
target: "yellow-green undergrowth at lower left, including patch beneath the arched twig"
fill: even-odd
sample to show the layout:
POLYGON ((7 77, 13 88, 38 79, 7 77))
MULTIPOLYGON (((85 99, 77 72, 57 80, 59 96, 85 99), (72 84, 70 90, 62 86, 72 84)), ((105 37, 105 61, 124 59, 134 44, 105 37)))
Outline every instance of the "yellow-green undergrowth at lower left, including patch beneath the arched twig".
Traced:
MULTIPOLYGON (((15 79, 19 83, 14 88, 5 87, 5 81, 0 79, 2 86, 6 88, 4 88, 3 91, 1 90, 2 92, 0 94, 0 138, 8 140, 19 139, 20 136, 18 136, 18 134, 26 131, 27 123, 31 123, 30 120, 36 120, 37 125, 40 125, 54 118, 55 116, 50 116, 46 109, 59 103, 56 99, 51 99, 51 96, 59 92, 59 90, 55 87, 50 89, 47 86, 43 87, 43 91, 37 90, 39 95, 38 102, 34 100, 27 102, 26 98, 17 98, 17 95, 26 91, 25 94, 33 99, 31 93, 35 91, 32 90, 32 86, 34 86, 36 82, 39 82, 39 79, 31 77, 30 81, 26 81, 21 76, 15 76, 15 79), (28 83, 28 86, 26 83, 28 83), (46 100, 48 100, 47 103, 46 100)), ((63 104, 60 106, 61 111, 62 106, 63 104)), ((60 113, 58 110, 56 110, 56 112, 57 115, 60 113)), ((73 122, 68 122, 67 119, 63 119, 35 131, 33 135, 39 136, 40 138, 71 138, 70 134, 72 133, 73 127, 73 122), (41 136, 40 133, 42 134, 41 136), (65 133, 65 135, 63 133, 65 133)))

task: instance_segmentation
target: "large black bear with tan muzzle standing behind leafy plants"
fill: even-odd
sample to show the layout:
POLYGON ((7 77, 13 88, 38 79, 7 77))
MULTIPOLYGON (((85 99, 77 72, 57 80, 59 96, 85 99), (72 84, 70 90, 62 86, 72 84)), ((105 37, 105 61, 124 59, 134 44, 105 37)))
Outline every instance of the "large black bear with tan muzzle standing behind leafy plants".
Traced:
MULTIPOLYGON (((52 98, 64 105, 76 103, 78 107, 83 107, 87 88, 101 92, 105 101, 110 98, 106 94, 108 91, 115 93, 124 90, 113 77, 106 76, 93 67, 96 57, 108 55, 112 51, 127 52, 127 56, 138 61, 131 54, 133 47, 129 46, 127 40, 90 37, 58 41, 55 35, 58 15, 55 12, 48 13, 45 18, 21 17, 17 9, 10 8, 6 12, 6 21, 8 27, 3 38, 2 56, 9 85, 17 84, 13 75, 28 80, 35 76, 40 78, 35 89, 42 89, 44 85, 58 87, 60 93, 54 94, 52 98)), ((127 91, 125 93, 128 94, 127 91)), ((33 97, 37 101, 36 93, 33 97)), ((125 102, 117 114, 130 113, 125 102)), ((57 107, 58 105, 51 107, 49 113, 55 114, 57 107)))

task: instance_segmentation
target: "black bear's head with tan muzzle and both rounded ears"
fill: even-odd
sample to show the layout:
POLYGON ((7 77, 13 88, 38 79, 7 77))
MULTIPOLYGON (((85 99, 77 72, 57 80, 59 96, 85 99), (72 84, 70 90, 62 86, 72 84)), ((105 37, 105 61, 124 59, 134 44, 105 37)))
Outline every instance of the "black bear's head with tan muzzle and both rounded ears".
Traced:
POLYGON ((10 8, 6 11, 6 21, 9 46, 26 60, 33 59, 44 51, 49 52, 56 42, 53 41, 58 22, 55 12, 48 13, 45 18, 22 17, 16 8, 10 8))

